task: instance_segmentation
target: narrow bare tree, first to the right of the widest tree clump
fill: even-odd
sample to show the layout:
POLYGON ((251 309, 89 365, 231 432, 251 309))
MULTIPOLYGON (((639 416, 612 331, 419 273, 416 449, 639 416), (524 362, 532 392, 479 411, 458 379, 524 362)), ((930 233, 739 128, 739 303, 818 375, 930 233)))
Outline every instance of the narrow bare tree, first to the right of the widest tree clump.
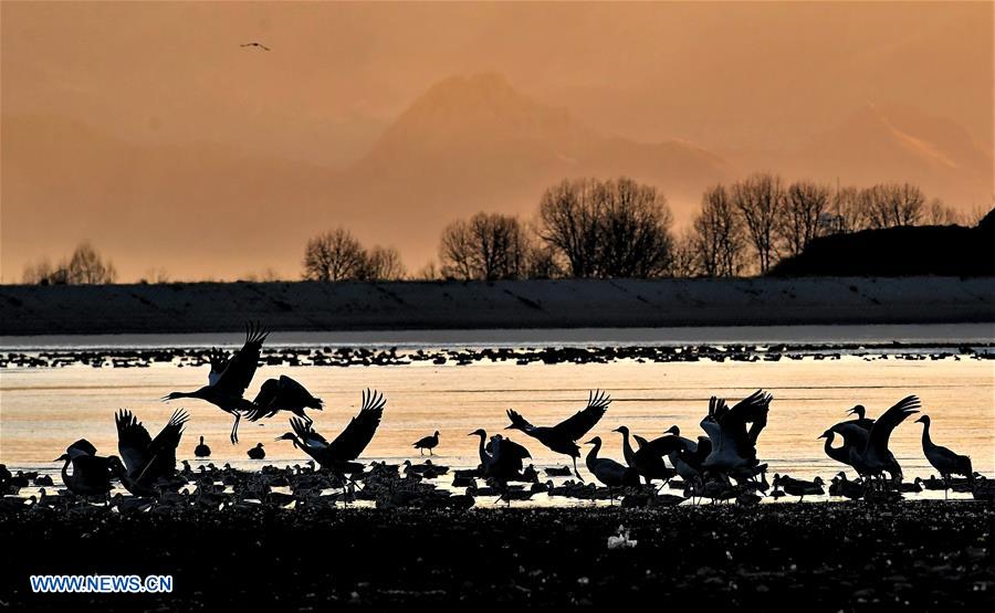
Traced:
POLYGON ((739 275, 745 260, 746 235, 724 186, 715 186, 702 194, 701 211, 692 228, 692 247, 701 273, 739 275))

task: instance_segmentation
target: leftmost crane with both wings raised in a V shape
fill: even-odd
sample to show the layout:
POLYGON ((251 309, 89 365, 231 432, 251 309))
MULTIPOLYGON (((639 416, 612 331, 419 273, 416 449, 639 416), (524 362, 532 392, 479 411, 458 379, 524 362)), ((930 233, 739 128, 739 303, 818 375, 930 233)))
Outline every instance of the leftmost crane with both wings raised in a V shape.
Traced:
POLYGON ((155 496, 156 482, 176 474, 176 448, 189 415, 180 409, 153 438, 134 413, 122 409, 114 415, 117 451, 124 461, 121 483, 135 496, 155 496))

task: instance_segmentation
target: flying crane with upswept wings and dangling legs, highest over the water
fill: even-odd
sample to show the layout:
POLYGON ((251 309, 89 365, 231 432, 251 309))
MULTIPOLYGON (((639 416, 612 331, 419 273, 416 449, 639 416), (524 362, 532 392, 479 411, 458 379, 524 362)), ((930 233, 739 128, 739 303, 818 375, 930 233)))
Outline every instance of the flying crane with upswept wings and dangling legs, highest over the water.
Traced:
POLYGON ((243 398, 243 394, 255 374, 262 344, 268 336, 269 332, 263 331, 259 324, 254 326, 250 324, 245 328, 245 342, 241 349, 235 351, 234 356, 230 359, 217 355, 211 357, 211 372, 208 374, 207 385, 192 392, 170 392, 163 397, 163 400, 198 398, 233 415, 231 443, 238 443, 239 420, 242 418, 242 413, 254 409, 254 404, 243 398))

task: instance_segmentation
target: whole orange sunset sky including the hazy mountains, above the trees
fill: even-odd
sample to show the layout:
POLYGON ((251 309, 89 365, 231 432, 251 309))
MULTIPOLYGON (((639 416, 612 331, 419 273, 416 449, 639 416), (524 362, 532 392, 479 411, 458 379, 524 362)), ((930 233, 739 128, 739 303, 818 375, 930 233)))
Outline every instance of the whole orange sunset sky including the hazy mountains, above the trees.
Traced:
POLYGON ((632 175, 687 223, 755 170, 991 207, 993 3, 8 2, 2 281, 300 276, 345 225, 415 271, 447 221, 632 175), (259 41, 272 49, 242 47, 259 41))

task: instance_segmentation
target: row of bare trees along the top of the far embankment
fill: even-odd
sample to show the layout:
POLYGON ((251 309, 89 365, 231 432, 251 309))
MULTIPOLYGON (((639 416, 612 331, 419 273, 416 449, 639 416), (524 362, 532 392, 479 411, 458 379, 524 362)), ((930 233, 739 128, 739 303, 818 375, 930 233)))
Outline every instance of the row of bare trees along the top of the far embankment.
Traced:
MULTIPOLYGON (((680 234, 663 193, 627 177, 564 180, 540 199, 532 220, 480 212, 447 225, 438 266, 409 275, 390 246, 364 246, 338 228, 307 241, 302 276, 310 281, 658 278, 765 274, 815 239, 900 225, 972 223, 911 183, 868 188, 787 182, 755 173, 704 191, 680 234)), ((25 267, 28 284, 114 283, 114 264, 88 243, 52 265, 25 267)), ((165 283, 165 271, 148 275, 165 283)), ((277 281, 266 271, 254 279, 277 281)), ((143 279, 143 282, 148 282, 143 279)))

